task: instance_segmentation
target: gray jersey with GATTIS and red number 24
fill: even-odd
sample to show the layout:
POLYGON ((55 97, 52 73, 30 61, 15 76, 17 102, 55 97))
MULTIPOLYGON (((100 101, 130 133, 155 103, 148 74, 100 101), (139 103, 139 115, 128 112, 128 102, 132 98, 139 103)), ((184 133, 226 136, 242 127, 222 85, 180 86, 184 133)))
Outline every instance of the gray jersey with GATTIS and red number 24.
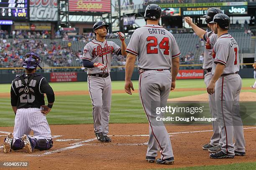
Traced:
POLYGON ((126 52, 138 56, 138 67, 142 69, 170 69, 172 58, 180 55, 172 33, 159 25, 136 29, 126 52))

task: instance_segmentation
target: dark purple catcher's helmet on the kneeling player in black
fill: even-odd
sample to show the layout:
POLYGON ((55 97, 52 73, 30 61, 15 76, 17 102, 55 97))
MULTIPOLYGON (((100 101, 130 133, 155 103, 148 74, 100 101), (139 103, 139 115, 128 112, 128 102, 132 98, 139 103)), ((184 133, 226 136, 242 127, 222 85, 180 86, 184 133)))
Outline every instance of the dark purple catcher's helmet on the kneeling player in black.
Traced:
POLYGON ((39 63, 42 62, 40 56, 38 53, 34 51, 30 51, 26 53, 23 57, 23 68, 27 69, 34 69, 37 66, 42 69, 42 67, 39 65, 39 63))

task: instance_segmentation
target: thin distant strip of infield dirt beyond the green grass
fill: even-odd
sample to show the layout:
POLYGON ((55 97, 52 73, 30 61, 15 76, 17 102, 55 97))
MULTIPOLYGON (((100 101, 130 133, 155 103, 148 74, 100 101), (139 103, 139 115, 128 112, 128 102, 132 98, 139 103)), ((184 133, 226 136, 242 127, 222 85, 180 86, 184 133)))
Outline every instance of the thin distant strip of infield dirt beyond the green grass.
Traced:
MULTIPOLYGON (((201 91, 205 90, 206 88, 177 88, 174 91, 201 91)), ((251 90, 251 87, 243 87, 242 90, 251 90)), ((138 90, 134 91, 135 93, 138 93, 138 90)), ((77 91, 56 91, 54 92, 55 95, 89 95, 88 90, 77 90, 77 91)), ((125 93, 124 90, 112 90, 112 93, 125 93)), ((10 97, 10 92, 2 92, 0 93, 0 97, 10 97)))

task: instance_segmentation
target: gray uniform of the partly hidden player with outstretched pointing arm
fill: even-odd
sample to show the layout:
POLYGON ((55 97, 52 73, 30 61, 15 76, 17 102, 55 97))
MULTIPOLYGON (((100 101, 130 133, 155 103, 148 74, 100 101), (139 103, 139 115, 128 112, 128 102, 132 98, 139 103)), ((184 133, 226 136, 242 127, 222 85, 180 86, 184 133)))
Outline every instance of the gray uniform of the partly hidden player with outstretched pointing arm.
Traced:
MULTIPOLYGON (((205 58, 203 63, 203 69, 206 70, 205 74, 205 85, 206 87, 210 83, 210 80, 212 80, 212 73, 210 70, 212 70, 212 48, 217 41, 218 36, 214 32, 206 32, 204 35, 204 40, 206 41, 205 44, 205 58), (207 71, 208 70, 208 71, 207 71)), ((216 103, 215 103, 215 95, 208 95, 209 97, 209 106, 210 106, 210 113, 213 118, 217 118, 217 110, 216 110, 216 103)), ((219 132, 218 127, 218 121, 212 121, 212 129, 213 134, 210 139, 210 145, 216 146, 218 144, 222 145, 221 142, 221 136, 219 132)))

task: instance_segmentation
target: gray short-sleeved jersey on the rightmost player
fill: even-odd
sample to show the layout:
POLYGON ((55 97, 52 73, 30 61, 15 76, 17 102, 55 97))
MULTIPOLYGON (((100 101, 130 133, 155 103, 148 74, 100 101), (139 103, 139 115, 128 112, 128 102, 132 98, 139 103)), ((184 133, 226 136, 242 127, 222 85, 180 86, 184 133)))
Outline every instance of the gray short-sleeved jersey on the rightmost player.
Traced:
POLYGON ((212 49, 212 75, 218 62, 225 65, 222 74, 233 74, 239 71, 238 44, 228 33, 221 35, 212 49))

